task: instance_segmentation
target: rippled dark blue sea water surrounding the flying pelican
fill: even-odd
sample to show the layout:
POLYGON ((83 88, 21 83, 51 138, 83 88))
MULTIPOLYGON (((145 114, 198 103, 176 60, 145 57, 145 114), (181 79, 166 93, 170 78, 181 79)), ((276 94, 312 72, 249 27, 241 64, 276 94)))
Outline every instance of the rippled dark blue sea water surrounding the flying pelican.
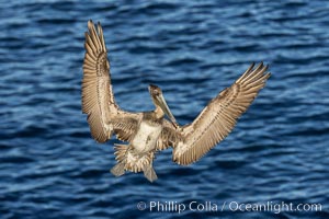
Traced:
POLYGON ((328 1, 1 1, 0 218, 329 218, 328 1), (231 135, 159 180, 115 178, 113 143, 80 110, 83 33, 101 21, 117 103, 149 111, 158 84, 180 124, 251 61, 272 77, 231 135), (138 201, 321 204, 281 214, 139 211, 138 201))

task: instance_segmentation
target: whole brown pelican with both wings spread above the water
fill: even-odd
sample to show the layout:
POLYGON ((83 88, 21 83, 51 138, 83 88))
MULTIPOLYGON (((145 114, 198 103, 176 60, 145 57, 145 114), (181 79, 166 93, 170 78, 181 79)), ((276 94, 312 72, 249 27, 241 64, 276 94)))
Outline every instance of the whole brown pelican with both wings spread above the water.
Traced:
POLYGON ((128 141, 128 145, 115 145, 117 164, 111 170, 115 176, 125 171, 143 171, 150 182, 155 181, 155 153, 169 147, 173 148, 172 160, 178 164, 197 161, 228 136, 270 77, 268 66, 261 62, 254 68, 252 64, 230 88, 213 99, 193 123, 180 126, 156 85, 149 85, 154 111, 131 113, 117 106, 100 23, 95 28, 92 21, 88 22, 84 47, 82 112, 88 114, 91 135, 98 142, 105 142, 114 134, 117 139, 128 141))

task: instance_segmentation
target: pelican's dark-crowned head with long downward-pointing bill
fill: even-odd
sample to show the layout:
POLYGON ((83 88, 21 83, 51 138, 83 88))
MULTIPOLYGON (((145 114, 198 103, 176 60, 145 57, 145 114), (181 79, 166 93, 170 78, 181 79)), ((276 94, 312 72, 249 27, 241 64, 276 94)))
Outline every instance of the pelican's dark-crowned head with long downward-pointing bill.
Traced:
POLYGON ((163 97, 162 91, 159 87, 149 84, 148 91, 151 95, 151 99, 154 101, 154 104, 156 105, 156 113, 159 113, 160 116, 163 116, 164 114, 168 116, 168 118, 171 120, 171 123, 177 126, 175 118, 173 117, 170 108, 167 105, 167 102, 163 97), (159 112, 160 111, 160 112, 159 112))

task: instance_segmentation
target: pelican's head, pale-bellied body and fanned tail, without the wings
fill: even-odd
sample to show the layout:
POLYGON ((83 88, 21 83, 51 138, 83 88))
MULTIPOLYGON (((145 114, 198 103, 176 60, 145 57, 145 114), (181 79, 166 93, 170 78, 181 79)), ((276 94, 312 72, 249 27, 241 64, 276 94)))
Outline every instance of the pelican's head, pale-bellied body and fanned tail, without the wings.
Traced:
POLYGON ((177 124, 171 114, 162 91, 156 85, 149 85, 149 92, 156 105, 152 112, 144 112, 138 120, 136 132, 132 135, 129 145, 116 145, 115 155, 118 163, 111 170, 116 175, 123 175, 125 170, 132 172, 144 171, 145 176, 150 181, 157 180, 157 174, 152 168, 157 141, 163 129, 164 114, 177 124))

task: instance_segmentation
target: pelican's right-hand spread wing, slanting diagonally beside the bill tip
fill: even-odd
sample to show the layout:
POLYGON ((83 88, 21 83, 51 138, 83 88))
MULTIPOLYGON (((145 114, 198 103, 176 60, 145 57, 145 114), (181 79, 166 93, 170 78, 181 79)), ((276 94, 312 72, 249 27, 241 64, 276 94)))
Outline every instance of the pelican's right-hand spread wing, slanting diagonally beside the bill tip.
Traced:
POLYGON ((192 124, 178 130, 168 127, 171 134, 167 134, 164 142, 170 143, 172 136, 180 136, 179 140, 171 142, 174 162, 186 165, 197 161, 234 129, 237 119, 247 111, 270 77, 270 73, 265 73, 268 66, 253 66, 252 64, 230 88, 213 99, 192 124))

